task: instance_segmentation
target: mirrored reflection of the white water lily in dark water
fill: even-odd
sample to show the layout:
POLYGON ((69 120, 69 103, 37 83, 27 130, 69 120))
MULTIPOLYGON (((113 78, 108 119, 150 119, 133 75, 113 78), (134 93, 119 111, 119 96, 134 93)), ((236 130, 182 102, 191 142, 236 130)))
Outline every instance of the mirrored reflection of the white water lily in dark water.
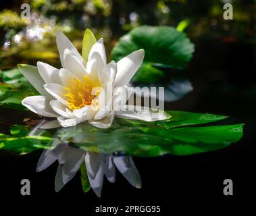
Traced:
MULTIPOLYGON (((45 130, 41 129, 43 125, 45 125, 45 121, 36 126, 30 132, 30 136, 43 134, 45 132, 45 130)), ((36 171, 43 171, 55 161, 59 163, 55 175, 56 192, 72 180, 81 165, 85 165, 88 181, 97 196, 101 196, 104 175, 109 182, 115 182, 116 168, 132 186, 141 187, 140 174, 134 165, 132 157, 128 155, 108 155, 85 151, 55 137, 39 158, 36 171)))

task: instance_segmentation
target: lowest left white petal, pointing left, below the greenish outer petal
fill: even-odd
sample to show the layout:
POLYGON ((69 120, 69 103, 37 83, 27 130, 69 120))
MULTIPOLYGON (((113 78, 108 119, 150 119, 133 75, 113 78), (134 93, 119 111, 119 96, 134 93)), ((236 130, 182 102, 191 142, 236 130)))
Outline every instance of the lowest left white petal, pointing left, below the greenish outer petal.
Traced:
POLYGON ((30 96, 22 100, 22 105, 45 117, 57 117, 56 113, 49 105, 49 99, 44 96, 30 96))

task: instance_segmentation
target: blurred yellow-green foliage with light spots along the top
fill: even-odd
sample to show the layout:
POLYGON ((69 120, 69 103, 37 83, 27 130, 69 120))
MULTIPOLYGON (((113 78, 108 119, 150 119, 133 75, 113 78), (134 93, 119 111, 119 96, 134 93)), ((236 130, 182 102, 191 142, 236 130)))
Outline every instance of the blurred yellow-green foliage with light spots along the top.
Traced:
POLYGON ((80 51, 85 28, 105 38, 107 53, 120 36, 140 25, 178 26, 194 42, 221 40, 255 44, 256 1, 245 0, 9 0, 1 3, 0 69, 17 62, 46 61, 59 66, 55 32, 62 30, 80 51), (232 3, 236 22, 223 18, 224 3, 232 3), (22 3, 31 8, 22 20, 22 3))

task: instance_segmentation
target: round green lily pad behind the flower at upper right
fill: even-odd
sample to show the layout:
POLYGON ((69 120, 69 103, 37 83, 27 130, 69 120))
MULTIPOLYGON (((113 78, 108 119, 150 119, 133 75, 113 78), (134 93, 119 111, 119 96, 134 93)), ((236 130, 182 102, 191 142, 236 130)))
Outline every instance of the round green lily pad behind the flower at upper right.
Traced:
POLYGON ((120 38, 111 58, 119 61, 137 49, 145 50, 145 59, 133 81, 157 82, 163 79, 166 68, 184 68, 193 55, 194 45, 176 28, 140 26, 120 38))

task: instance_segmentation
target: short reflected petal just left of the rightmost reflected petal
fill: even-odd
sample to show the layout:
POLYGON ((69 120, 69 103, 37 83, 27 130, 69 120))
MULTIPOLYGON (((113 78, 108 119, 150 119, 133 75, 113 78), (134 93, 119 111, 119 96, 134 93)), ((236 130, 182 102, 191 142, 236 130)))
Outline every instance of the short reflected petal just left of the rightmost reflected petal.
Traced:
POLYGON ((113 165, 113 156, 112 155, 103 155, 103 161, 102 161, 102 166, 103 166, 103 172, 109 180, 109 182, 113 183, 116 180, 116 169, 115 166, 113 165))

